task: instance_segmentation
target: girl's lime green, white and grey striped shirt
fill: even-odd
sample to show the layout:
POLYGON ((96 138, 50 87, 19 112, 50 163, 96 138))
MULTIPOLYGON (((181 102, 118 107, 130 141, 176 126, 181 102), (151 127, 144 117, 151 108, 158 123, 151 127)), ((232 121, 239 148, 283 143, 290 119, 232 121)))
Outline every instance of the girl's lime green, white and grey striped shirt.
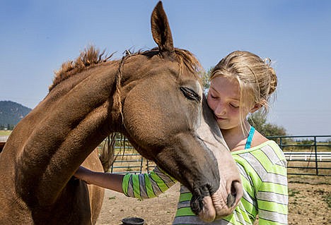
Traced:
MULTIPOLYGON (((244 193, 233 214, 205 223, 190 208, 192 194, 180 187, 180 199, 173 224, 287 224, 286 159, 276 142, 269 140, 248 150, 231 152, 240 171, 244 193)), ((156 197, 170 188, 175 180, 156 167, 151 174, 127 174, 124 194, 130 197, 156 197)))

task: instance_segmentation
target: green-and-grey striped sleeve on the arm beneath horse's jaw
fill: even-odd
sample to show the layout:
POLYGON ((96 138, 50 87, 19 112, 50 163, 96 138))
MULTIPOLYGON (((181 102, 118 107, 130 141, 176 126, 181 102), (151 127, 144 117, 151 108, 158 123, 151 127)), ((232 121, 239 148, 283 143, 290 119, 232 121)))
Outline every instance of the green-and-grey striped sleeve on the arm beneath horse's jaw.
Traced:
POLYGON ((160 195, 175 183, 174 178, 156 166, 149 174, 126 174, 122 189, 124 195, 128 197, 144 199, 160 195))

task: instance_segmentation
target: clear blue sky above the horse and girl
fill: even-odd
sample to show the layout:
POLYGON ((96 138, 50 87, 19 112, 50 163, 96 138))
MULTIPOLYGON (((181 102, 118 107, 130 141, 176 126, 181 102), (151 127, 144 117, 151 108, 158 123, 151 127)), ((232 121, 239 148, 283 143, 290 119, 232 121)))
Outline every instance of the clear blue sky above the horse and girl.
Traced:
MULTIPOLYGON (((0 100, 34 108, 54 71, 88 44, 115 59, 156 47, 156 0, 0 0, 0 100)), ((279 78, 270 123, 290 135, 331 135, 331 1, 163 1, 175 47, 206 70, 235 50, 269 57, 279 78)))

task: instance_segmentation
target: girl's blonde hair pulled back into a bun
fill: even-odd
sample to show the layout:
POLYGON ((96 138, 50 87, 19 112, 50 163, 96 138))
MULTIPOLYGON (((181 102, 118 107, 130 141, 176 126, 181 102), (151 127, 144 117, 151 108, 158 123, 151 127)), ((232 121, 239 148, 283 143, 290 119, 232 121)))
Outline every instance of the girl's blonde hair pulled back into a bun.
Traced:
MULTIPOLYGON (((219 75, 238 80, 240 108, 260 104, 263 114, 267 114, 270 97, 277 87, 277 75, 270 59, 263 60, 249 51, 233 51, 214 67, 210 80, 219 75)), ((241 115, 242 109, 240 118, 241 115)))

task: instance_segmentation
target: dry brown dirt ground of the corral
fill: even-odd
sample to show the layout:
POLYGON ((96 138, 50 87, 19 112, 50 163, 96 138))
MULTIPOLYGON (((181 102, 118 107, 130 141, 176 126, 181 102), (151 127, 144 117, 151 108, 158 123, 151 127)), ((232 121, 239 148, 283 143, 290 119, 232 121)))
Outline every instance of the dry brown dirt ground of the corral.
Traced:
MULTIPOLYGON (((331 224, 331 177, 289 176, 289 224, 331 224)), ((140 217, 145 225, 171 224, 179 196, 175 185, 159 197, 137 200, 105 191, 98 225, 120 225, 125 217, 140 217)))

